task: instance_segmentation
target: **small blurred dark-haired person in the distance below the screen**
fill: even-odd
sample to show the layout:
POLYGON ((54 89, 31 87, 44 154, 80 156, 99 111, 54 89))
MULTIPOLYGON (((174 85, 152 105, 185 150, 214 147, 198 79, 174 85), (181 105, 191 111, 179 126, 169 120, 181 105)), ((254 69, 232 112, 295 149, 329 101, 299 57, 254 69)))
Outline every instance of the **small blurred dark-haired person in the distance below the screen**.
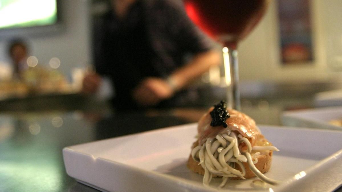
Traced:
POLYGON ((23 40, 15 39, 10 42, 8 52, 13 66, 12 79, 20 80, 21 73, 28 68, 26 64, 28 46, 23 40))

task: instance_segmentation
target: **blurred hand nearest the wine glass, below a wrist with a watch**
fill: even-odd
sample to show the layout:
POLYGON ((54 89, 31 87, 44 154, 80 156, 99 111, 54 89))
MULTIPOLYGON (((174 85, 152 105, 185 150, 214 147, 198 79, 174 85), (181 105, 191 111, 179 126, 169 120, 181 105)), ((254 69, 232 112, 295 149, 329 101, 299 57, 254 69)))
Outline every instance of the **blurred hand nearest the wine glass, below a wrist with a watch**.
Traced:
POLYGON ((134 90, 133 99, 142 106, 154 106, 160 101, 170 98, 173 88, 161 78, 147 78, 134 90))

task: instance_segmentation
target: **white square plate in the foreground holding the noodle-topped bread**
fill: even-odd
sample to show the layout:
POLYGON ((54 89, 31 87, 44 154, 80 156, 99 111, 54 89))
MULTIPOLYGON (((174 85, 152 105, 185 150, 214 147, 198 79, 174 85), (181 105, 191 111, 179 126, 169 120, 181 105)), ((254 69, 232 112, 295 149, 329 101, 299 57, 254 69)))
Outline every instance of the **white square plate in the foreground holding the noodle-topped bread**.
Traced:
MULTIPOLYGON (((196 124, 100 140, 63 149, 66 172, 101 191, 217 191, 186 167, 196 124)), ((332 191, 342 184, 342 132, 259 126, 279 152, 265 175, 284 181, 258 187, 229 181, 222 191, 332 191), (271 188, 271 189, 270 189, 271 188)))

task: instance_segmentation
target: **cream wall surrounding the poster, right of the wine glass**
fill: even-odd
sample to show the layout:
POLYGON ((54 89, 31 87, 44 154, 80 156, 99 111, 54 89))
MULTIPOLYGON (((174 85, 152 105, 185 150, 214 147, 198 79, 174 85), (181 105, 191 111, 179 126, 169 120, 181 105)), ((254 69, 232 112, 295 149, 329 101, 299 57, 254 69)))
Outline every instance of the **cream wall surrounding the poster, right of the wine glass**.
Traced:
POLYGON ((280 61, 277 1, 239 46, 241 81, 303 82, 339 80, 342 71, 341 0, 312 0, 313 65, 283 66, 280 61))

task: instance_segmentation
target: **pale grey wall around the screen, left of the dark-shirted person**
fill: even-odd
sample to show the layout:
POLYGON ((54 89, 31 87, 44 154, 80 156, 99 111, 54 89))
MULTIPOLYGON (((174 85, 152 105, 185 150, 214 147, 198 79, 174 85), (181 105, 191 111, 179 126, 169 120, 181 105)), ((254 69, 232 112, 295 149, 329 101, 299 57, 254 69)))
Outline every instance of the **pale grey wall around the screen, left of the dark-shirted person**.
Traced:
MULTIPOLYGON (((62 26, 57 31, 13 35, 0 31, 0 63, 9 62, 7 44, 12 38, 23 37, 31 45, 31 54, 39 65, 48 66, 52 57, 61 60, 60 70, 67 76, 74 67, 91 63, 90 14, 88 0, 61 0, 62 26)), ((24 30, 25 31, 25 30, 24 30)))

